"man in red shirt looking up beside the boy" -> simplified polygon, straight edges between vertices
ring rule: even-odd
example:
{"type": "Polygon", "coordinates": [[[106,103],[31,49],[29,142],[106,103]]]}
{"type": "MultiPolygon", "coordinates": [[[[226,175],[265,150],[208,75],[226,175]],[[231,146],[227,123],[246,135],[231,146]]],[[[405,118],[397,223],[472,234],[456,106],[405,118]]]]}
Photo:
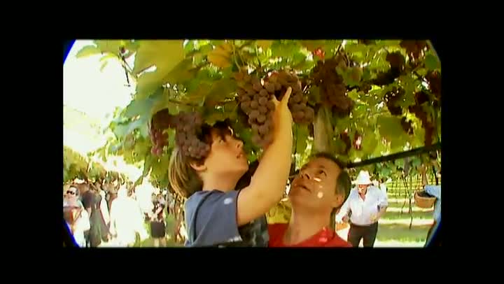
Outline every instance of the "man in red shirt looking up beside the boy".
{"type": "Polygon", "coordinates": [[[350,248],[333,227],[333,217],[350,189],[351,179],[341,162],[327,153],[314,155],[290,185],[290,222],[268,226],[269,247],[350,248]]]}

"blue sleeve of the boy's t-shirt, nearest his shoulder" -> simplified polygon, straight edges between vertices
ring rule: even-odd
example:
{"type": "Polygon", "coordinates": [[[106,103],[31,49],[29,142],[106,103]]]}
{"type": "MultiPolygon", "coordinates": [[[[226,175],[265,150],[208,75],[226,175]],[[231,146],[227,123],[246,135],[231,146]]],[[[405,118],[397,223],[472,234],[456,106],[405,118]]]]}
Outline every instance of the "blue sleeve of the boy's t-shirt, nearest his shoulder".
{"type": "Polygon", "coordinates": [[[186,201],[189,240],[186,246],[215,246],[242,241],[237,225],[238,194],[237,190],[197,192],[191,197],[193,200],[186,201]]]}

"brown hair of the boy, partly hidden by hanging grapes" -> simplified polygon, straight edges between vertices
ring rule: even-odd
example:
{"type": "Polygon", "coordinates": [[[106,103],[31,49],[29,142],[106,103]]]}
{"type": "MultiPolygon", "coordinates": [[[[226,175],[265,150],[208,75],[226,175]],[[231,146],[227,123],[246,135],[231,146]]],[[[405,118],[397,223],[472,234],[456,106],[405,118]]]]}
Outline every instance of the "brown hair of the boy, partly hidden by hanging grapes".
{"type": "MultiPolygon", "coordinates": [[[[213,143],[211,136],[212,131],[223,138],[227,134],[232,134],[229,122],[220,121],[216,122],[214,126],[207,124],[202,125],[201,132],[198,134],[198,139],[211,145],[213,143]]],[[[181,195],[181,197],[189,198],[195,192],[202,190],[203,182],[190,164],[192,162],[203,164],[205,159],[206,157],[202,159],[187,157],[183,155],[181,149],[177,145],[175,146],[168,166],[169,186],[172,187],[174,192],[181,195]]]]}

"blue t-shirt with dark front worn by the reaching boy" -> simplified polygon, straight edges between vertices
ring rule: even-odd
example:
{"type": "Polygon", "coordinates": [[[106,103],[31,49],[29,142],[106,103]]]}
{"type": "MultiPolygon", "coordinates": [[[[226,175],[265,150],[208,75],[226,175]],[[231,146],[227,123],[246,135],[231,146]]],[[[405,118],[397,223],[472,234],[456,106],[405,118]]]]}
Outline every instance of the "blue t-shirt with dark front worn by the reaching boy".
{"type": "Polygon", "coordinates": [[[267,247],[269,234],[266,216],[238,227],[239,192],[199,191],[189,197],[185,204],[186,246],[267,247]]]}

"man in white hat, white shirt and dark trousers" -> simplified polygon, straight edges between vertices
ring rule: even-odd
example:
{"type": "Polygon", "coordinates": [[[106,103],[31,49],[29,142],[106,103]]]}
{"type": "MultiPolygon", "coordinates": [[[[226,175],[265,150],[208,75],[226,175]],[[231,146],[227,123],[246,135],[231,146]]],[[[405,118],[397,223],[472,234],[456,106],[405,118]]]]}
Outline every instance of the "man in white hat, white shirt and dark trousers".
{"type": "Polygon", "coordinates": [[[335,220],[336,222],[350,220],[348,241],[353,247],[358,247],[360,239],[363,239],[364,247],[372,247],[378,232],[378,220],[384,215],[388,206],[387,196],[372,185],[367,171],[360,171],[356,185],[335,220]]]}

